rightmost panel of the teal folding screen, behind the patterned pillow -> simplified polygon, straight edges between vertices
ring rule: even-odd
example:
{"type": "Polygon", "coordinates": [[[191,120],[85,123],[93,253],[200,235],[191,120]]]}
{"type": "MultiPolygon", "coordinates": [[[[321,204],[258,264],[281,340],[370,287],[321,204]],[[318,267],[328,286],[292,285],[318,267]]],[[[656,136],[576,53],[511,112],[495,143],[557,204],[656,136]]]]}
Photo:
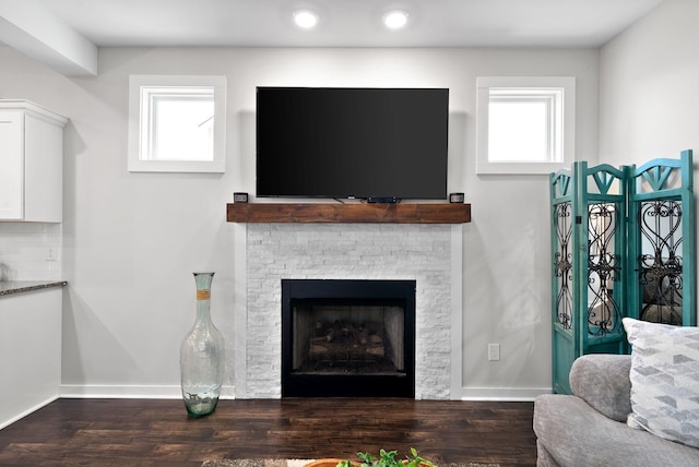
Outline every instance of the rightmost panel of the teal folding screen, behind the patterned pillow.
{"type": "Polygon", "coordinates": [[[630,168],[629,316],[695,326],[695,208],[691,151],[630,168]]]}

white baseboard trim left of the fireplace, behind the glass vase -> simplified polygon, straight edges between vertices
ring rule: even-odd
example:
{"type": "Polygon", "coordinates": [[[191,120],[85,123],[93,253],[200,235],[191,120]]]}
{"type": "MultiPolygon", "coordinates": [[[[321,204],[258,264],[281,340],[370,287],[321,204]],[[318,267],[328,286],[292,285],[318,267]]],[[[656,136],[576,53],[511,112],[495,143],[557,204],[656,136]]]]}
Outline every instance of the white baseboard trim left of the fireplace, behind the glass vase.
{"type": "MultiPolygon", "coordinates": [[[[62,384],[59,391],[62,398],[83,399],[179,399],[182,391],[179,385],[145,386],[145,385],[97,385],[97,384],[62,384]]],[[[223,386],[222,399],[234,399],[235,387],[223,386]]]]}

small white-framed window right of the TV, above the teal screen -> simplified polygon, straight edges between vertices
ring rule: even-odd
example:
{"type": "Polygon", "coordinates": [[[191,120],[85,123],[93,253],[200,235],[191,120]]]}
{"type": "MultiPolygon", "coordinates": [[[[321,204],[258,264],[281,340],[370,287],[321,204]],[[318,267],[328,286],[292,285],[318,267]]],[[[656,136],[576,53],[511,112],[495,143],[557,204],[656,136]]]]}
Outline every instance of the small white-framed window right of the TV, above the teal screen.
{"type": "Polygon", "coordinates": [[[574,116],[574,77],[479,77],[476,173],[549,173],[569,166],[574,116]]]}

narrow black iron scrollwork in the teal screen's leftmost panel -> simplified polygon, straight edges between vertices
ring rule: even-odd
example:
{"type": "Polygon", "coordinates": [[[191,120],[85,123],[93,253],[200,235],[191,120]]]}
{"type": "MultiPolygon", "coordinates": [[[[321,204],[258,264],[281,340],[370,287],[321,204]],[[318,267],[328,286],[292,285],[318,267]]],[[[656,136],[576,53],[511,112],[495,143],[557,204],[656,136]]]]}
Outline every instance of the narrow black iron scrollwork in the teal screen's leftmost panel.
{"type": "Polygon", "coordinates": [[[554,266],[557,277],[556,290],[556,320],[564,330],[572,328],[572,219],[571,204],[560,203],[556,205],[556,252],[554,266]]]}

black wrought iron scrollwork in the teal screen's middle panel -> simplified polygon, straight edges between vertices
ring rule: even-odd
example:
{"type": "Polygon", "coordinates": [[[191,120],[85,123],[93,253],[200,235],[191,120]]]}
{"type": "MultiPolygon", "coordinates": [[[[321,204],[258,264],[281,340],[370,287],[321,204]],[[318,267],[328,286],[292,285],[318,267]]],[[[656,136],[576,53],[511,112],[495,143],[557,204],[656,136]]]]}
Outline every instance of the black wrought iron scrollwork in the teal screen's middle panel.
{"type": "Polygon", "coordinates": [[[604,336],[620,331],[621,310],[614,286],[621,280],[621,255],[615,251],[614,203],[588,206],[588,332],[604,336]]]}

